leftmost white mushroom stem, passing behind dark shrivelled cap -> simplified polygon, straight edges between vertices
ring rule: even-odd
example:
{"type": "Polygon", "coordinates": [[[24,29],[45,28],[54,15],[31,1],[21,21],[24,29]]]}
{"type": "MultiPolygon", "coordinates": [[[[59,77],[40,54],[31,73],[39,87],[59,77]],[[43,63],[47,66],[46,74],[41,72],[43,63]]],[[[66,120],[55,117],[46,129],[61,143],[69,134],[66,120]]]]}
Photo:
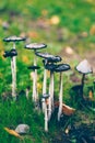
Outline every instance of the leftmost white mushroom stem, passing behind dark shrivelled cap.
{"type": "MultiPolygon", "coordinates": [[[[15,50],[15,43],[13,43],[13,50],[15,50]]],[[[11,70],[12,70],[12,97],[16,100],[16,56],[11,59],[11,70]]]]}

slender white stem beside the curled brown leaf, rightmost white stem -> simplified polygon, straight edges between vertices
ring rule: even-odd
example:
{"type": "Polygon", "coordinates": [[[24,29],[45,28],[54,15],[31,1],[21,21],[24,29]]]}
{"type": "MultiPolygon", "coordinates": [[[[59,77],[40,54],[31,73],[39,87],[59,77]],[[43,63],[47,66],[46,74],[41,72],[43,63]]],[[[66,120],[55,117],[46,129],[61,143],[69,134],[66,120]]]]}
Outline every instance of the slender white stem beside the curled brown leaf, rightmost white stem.
{"type": "Polygon", "coordinates": [[[58,121],[62,113],[62,72],[60,73],[60,86],[59,86],[59,110],[58,110],[58,121]]]}

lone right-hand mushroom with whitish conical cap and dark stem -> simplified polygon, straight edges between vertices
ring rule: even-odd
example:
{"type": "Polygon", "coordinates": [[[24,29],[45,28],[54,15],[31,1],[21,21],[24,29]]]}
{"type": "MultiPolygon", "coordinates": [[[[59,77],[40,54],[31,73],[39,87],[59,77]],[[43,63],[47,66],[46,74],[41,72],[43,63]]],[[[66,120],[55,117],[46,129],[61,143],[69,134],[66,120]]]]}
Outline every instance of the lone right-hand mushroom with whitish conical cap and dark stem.
{"type": "Polygon", "coordinates": [[[85,75],[93,73],[93,69],[91,67],[91,65],[88,64],[87,59],[83,59],[81,63],[79,63],[79,65],[75,67],[75,69],[82,74],[82,88],[81,88],[81,98],[83,99],[83,88],[84,88],[84,79],[85,79],[85,75]]]}

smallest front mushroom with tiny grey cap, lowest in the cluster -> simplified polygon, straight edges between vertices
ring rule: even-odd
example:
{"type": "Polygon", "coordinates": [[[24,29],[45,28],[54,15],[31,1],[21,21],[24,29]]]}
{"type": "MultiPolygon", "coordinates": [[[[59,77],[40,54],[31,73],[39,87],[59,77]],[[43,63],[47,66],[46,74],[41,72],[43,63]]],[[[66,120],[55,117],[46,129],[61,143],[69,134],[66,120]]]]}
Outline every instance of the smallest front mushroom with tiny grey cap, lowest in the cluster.
{"type": "Polygon", "coordinates": [[[49,98],[49,95],[44,94],[41,97],[41,102],[45,107],[45,131],[48,132],[48,109],[47,109],[47,99],[49,98]]]}

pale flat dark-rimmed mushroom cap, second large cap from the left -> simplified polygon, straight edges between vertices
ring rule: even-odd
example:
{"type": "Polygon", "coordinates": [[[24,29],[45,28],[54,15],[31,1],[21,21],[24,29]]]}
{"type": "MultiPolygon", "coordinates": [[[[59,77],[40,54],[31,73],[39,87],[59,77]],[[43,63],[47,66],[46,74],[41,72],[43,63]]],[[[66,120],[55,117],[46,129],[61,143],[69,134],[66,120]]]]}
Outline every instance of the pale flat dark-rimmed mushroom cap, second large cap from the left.
{"type": "Polygon", "coordinates": [[[44,43],[32,43],[32,44],[25,45],[25,48],[27,50],[40,50],[45,47],[47,47],[47,45],[44,43]]]}

